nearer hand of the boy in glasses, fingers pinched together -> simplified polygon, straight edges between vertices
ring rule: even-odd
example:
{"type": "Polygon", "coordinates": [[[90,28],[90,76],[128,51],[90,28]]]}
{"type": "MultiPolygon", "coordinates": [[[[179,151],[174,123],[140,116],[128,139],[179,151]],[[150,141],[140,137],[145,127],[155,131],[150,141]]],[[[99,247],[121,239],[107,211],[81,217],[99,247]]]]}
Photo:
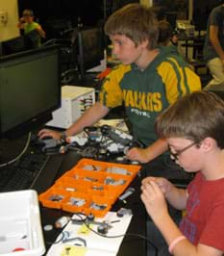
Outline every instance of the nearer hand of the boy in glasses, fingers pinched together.
{"type": "Polygon", "coordinates": [[[167,204],[164,194],[159,185],[151,180],[141,186],[141,200],[145,205],[147,213],[157,224],[168,215],[167,204]]]}

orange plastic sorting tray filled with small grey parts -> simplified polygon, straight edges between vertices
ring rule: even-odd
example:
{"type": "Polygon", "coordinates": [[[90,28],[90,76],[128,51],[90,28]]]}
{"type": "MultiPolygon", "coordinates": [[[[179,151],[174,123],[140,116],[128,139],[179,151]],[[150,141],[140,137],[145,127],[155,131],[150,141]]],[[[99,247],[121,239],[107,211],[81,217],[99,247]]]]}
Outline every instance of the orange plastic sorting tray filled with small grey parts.
{"type": "Polygon", "coordinates": [[[104,217],[136,177],[140,166],[82,159],[38,196],[45,207],[104,217]]]}

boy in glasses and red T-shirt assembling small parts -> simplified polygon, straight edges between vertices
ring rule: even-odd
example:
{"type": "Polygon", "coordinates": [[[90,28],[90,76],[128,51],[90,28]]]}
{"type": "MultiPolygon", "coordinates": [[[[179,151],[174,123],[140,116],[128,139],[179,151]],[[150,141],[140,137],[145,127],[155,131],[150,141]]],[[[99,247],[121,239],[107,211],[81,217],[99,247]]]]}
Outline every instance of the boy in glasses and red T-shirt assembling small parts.
{"type": "MultiPolygon", "coordinates": [[[[223,255],[223,128],[224,101],[209,91],[184,96],[157,118],[157,133],[167,141],[171,158],[187,172],[196,172],[187,190],[160,177],[142,181],[141,199],[168,244],[158,255],[223,255]],[[186,210],[179,227],[168,214],[166,200],[186,210]]],[[[161,250],[162,244],[156,246],[161,250]]]]}

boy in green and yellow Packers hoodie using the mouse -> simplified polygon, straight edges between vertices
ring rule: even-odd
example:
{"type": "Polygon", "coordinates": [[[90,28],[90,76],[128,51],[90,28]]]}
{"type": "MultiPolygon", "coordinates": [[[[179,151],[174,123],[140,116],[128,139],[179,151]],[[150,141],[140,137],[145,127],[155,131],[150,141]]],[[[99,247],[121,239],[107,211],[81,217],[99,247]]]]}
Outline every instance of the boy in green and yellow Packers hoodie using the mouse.
{"type": "Polygon", "coordinates": [[[105,32],[112,40],[112,53],[122,64],[105,78],[99,101],[63,134],[42,129],[38,135],[56,140],[75,135],[123,104],[134,137],[148,146],[132,148],[127,157],[150,162],[168,149],[167,142],[158,139],[154,131],[155,118],[178,98],[201,90],[200,78],[168,47],[158,47],[158,22],[151,8],[126,5],[112,13],[105,32]],[[146,157],[142,150],[146,150],[146,157]]]}

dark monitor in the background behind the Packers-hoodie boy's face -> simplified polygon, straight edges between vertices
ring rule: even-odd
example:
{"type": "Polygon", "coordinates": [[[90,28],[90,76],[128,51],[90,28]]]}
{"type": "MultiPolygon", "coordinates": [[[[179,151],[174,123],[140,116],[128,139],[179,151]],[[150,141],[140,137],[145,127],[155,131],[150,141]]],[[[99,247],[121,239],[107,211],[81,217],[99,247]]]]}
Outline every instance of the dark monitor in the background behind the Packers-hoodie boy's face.
{"type": "Polygon", "coordinates": [[[77,64],[81,77],[87,69],[95,67],[104,59],[103,32],[101,28],[85,28],[78,32],[77,64]]]}

